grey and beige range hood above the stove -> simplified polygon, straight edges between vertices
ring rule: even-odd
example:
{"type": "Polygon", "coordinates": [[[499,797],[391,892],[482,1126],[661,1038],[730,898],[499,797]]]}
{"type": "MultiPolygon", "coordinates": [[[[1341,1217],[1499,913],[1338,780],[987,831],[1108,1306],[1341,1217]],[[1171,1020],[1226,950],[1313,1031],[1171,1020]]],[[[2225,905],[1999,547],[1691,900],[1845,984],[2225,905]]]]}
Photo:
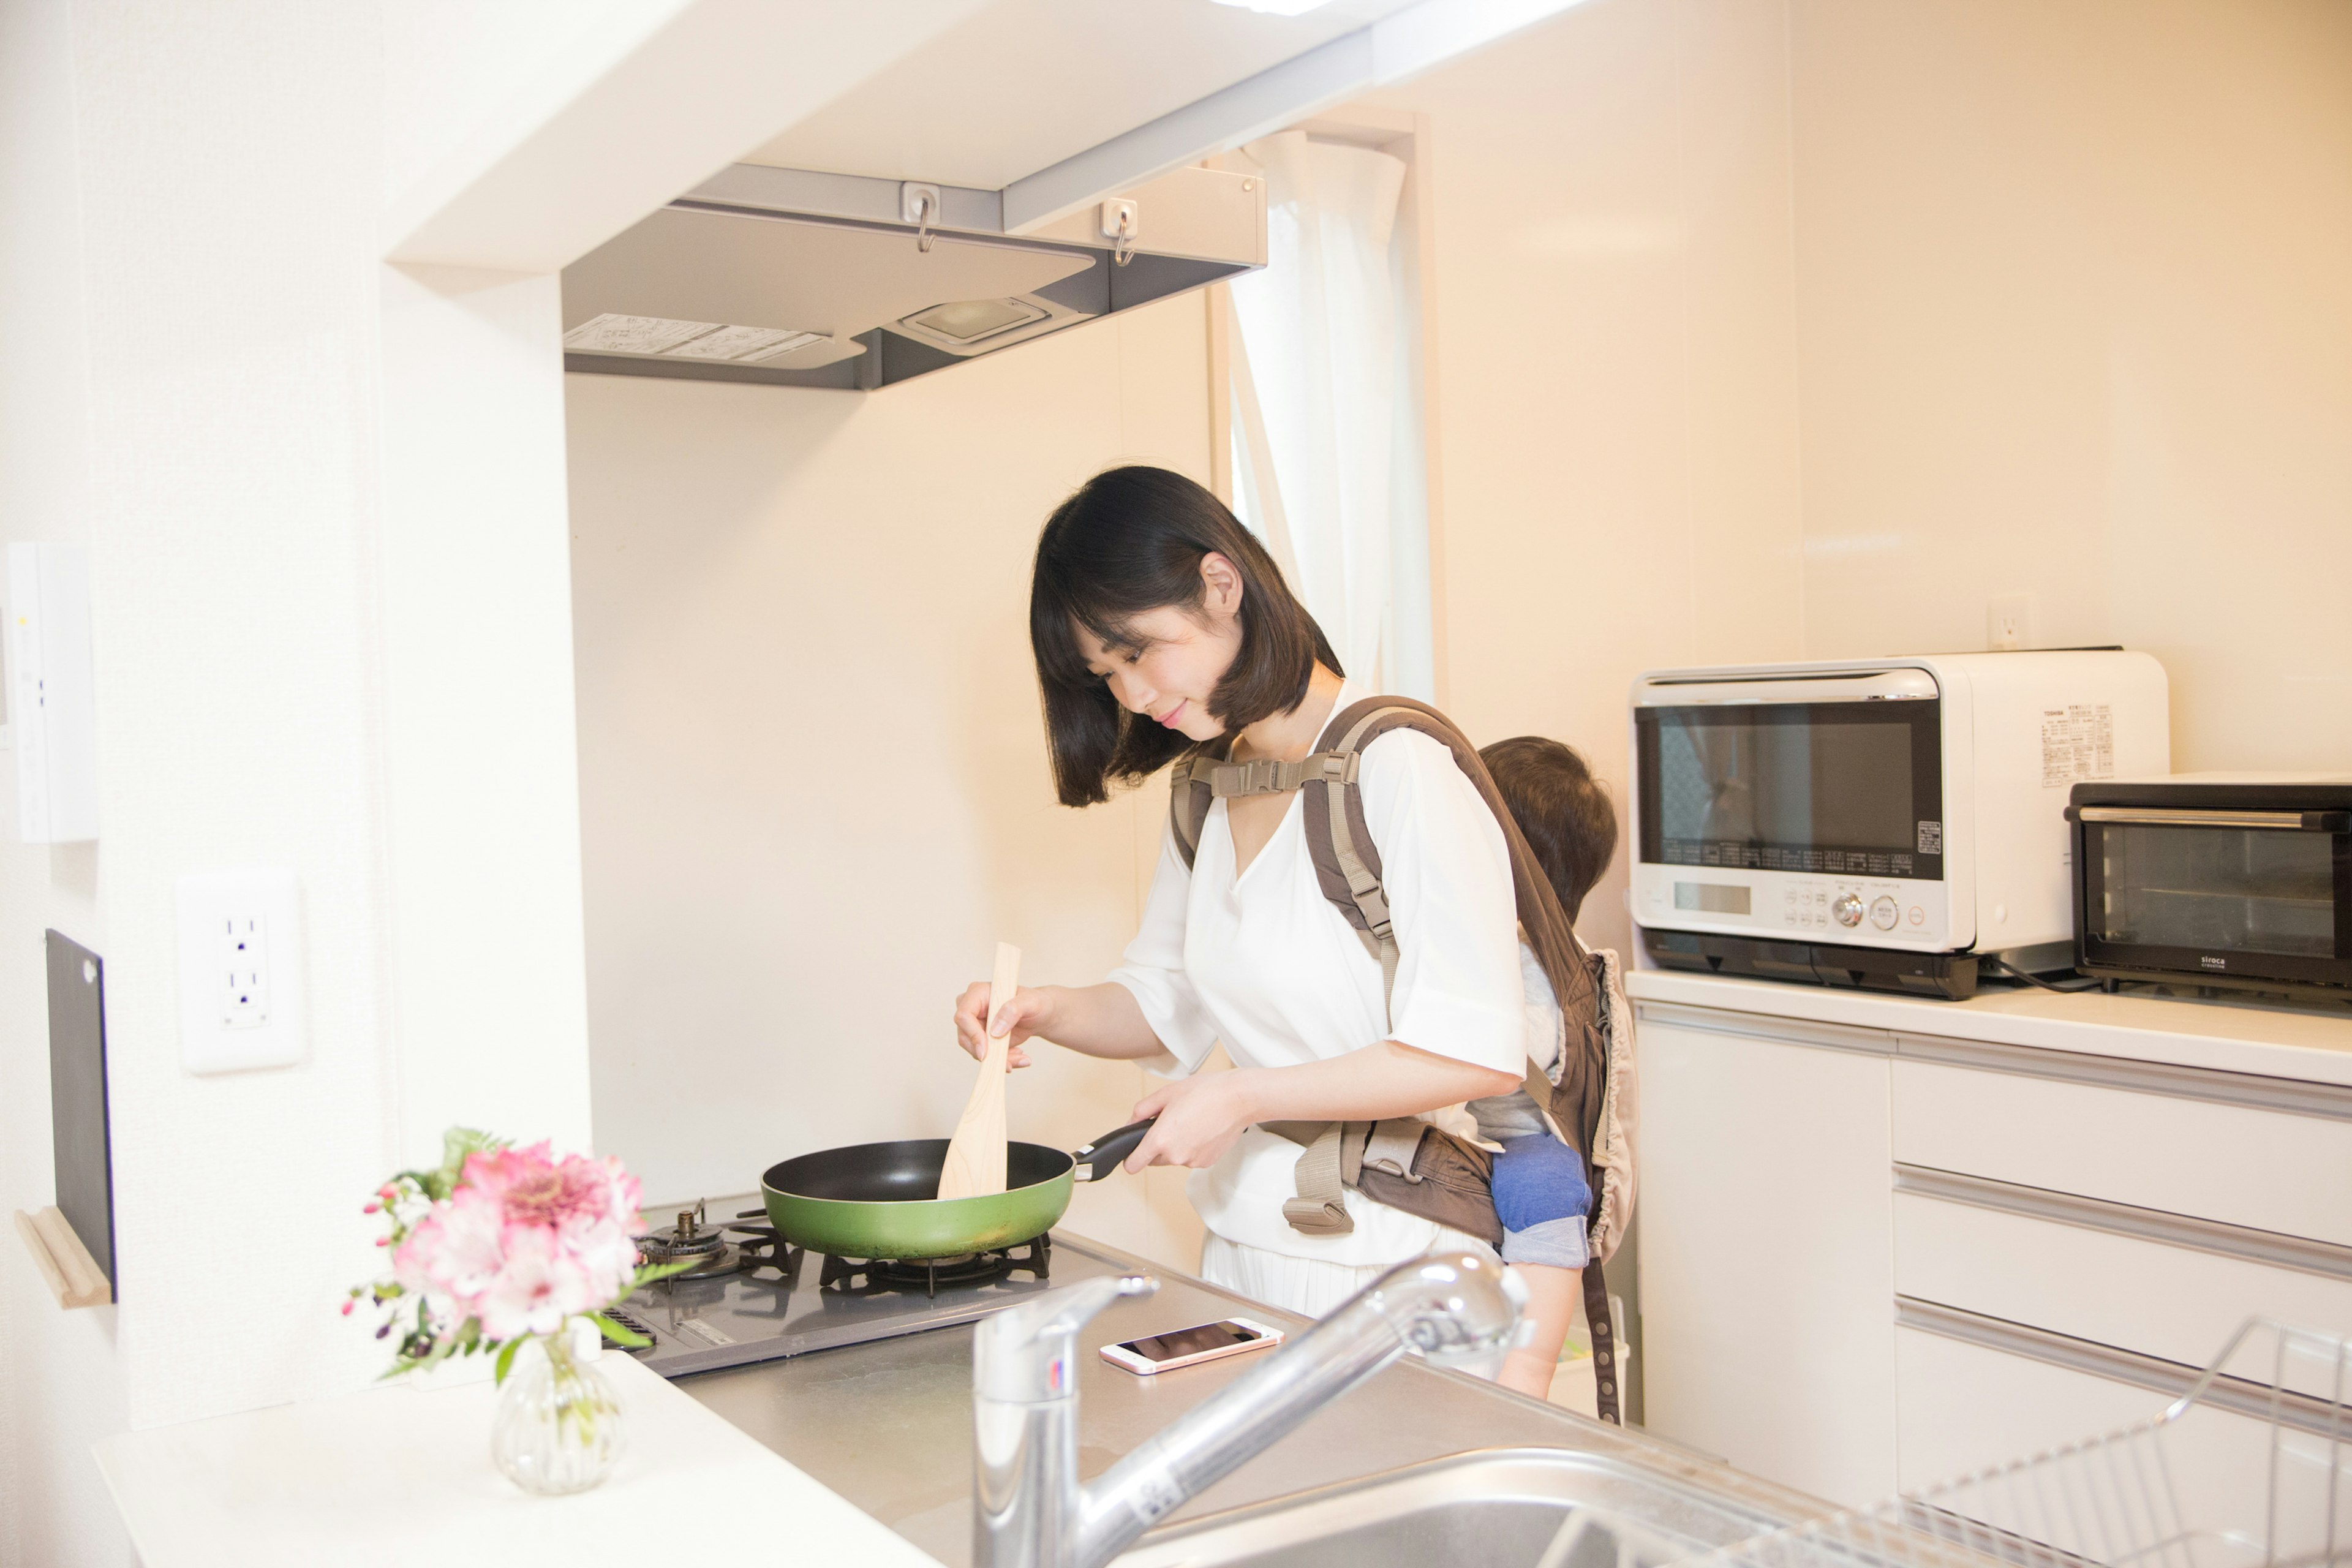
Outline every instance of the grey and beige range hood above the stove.
{"type": "Polygon", "coordinates": [[[1221,169],[1007,235],[997,190],[734,165],[564,268],[564,369],[870,393],[1258,266],[1221,169]]]}

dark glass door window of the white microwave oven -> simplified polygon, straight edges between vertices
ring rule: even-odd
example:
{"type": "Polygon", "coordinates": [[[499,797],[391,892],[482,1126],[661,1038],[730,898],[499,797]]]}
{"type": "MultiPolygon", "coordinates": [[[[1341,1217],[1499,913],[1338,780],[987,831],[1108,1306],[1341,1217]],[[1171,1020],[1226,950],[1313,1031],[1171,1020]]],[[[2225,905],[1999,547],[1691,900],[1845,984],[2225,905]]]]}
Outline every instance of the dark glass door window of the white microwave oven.
{"type": "Polygon", "coordinates": [[[1940,879],[1940,708],[1635,708],[1642,860],[1940,879]]]}

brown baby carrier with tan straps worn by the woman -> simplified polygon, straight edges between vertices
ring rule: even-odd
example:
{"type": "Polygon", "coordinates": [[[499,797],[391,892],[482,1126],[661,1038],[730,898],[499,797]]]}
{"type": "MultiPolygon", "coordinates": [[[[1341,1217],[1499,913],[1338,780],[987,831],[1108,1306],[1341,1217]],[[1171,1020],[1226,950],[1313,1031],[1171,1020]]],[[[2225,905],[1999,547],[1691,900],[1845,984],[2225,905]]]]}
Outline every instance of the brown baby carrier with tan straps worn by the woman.
{"type": "MultiPolygon", "coordinates": [[[[1632,1218],[1635,1060],[1632,1013],[1618,983],[1613,952],[1595,954],[1559,907],[1559,896],[1536,865],[1526,837],[1503,804],[1477,748],[1435,708],[1402,696],[1374,696],[1334,715],[1303,762],[1228,762],[1230,741],[1211,741],[1174,766],[1169,823],[1176,849],[1190,867],[1200,830],[1214,799],[1237,795],[1289,795],[1303,790],[1308,853],[1315,877],[1364,947],[1381,964],[1381,994],[1397,983],[1397,938],[1381,889],[1381,851],[1364,823],[1357,769],[1364,748],[1392,729],[1416,729],[1442,741],[1461,771],[1477,785],[1503,842],[1510,846],[1510,882],[1519,905],[1519,929],[1536,964],[1552,983],[1564,1037],[1550,1072],[1526,1065],[1526,1091],[1585,1161],[1592,1187],[1588,1244],[1592,1262],[1583,1272],[1585,1321],[1592,1328],[1592,1366],[1602,1420],[1618,1422],[1616,1326],[1602,1265],[1616,1253],[1632,1218]]],[[[1503,1241],[1494,1211],[1494,1157],[1479,1145],[1414,1117],[1392,1121],[1270,1121],[1270,1133],[1305,1145],[1298,1154],[1296,1197],[1282,1215],[1305,1234],[1352,1229],[1341,1187],[1437,1220],[1491,1244],[1503,1241]]]]}

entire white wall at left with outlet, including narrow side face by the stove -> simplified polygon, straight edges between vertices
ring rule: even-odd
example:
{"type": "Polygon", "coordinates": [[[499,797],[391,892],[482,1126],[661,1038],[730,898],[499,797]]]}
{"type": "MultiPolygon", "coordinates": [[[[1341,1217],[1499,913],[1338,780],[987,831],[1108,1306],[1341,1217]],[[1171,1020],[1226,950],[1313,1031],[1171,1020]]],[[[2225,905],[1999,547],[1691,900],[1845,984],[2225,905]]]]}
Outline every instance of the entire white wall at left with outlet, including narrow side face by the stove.
{"type": "Polygon", "coordinates": [[[96,844],[24,846],[0,769],[0,1208],[52,1201],[56,926],[108,961],[120,1293],[0,1241],[5,1563],[129,1561],[92,1439],[381,1371],[360,1201],[447,1119],[588,1135],[553,280],[379,266],[381,52],[0,7],[0,534],[92,550],[101,780],[96,844]],[[198,1079],[172,889],[226,865],[301,877],[310,1056],[198,1079]]]}

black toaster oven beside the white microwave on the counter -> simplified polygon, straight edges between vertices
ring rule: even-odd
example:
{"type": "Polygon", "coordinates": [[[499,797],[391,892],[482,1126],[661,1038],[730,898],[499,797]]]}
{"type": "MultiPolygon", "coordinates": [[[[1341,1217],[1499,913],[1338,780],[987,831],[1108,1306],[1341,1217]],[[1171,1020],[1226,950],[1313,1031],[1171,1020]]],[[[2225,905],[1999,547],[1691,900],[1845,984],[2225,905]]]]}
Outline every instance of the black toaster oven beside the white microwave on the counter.
{"type": "Polygon", "coordinates": [[[2352,778],[2079,783],[2074,966],[2352,1001],[2352,778]]]}

